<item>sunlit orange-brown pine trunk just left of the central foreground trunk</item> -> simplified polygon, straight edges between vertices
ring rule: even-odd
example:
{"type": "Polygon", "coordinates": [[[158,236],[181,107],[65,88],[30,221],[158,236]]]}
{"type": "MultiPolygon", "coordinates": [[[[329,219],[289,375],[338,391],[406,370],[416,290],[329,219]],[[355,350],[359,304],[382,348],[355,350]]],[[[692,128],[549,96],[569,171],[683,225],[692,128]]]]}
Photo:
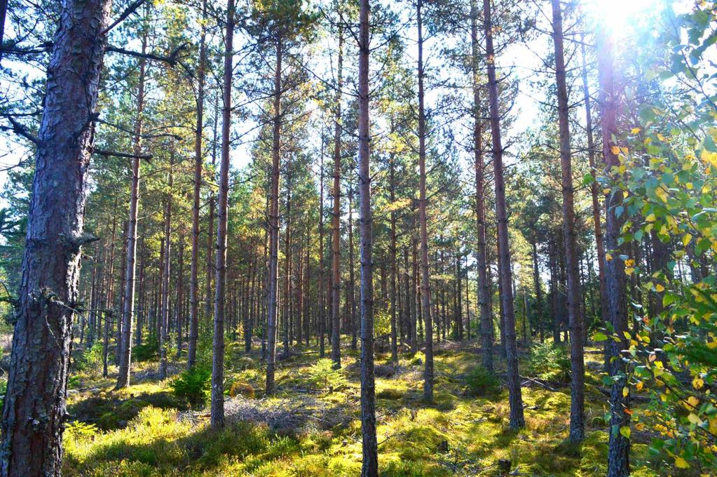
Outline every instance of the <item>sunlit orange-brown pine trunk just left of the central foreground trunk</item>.
{"type": "Polygon", "coordinates": [[[333,129],[333,214],[331,216],[331,360],[335,369],[341,368],[341,88],[343,88],[343,28],[338,27],[338,82],[336,85],[336,123],[333,129]]]}

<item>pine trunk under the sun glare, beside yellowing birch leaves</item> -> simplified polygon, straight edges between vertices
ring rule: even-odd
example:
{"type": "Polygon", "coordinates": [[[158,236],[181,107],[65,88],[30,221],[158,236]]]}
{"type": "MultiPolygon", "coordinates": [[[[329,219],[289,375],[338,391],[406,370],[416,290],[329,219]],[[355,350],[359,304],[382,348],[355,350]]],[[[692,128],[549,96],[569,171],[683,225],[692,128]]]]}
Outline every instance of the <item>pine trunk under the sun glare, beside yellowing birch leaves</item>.
{"type": "MultiPolygon", "coordinates": [[[[618,88],[614,84],[612,39],[600,29],[597,34],[598,70],[600,84],[600,104],[602,105],[602,154],[605,161],[605,174],[612,176],[612,168],[620,164],[619,157],[612,150],[617,147],[612,138],[617,138],[617,110],[619,108],[618,88]]],[[[607,450],[607,476],[626,477],[630,474],[630,440],[619,432],[630,425],[630,415],[625,412],[630,407],[630,394],[623,395],[625,382],[625,364],[620,350],[627,348],[624,333],[627,331],[627,296],[625,290],[625,263],[619,256],[622,246],[617,239],[625,214],[618,215],[616,208],[621,207],[622,194],[609,194],[606,204],[605,248],[612,260],[605,263],[605,291],[608,313],[618,341],[608,340],[609,375],[613,379],[610,389],[610,437],[607,450]]]]}

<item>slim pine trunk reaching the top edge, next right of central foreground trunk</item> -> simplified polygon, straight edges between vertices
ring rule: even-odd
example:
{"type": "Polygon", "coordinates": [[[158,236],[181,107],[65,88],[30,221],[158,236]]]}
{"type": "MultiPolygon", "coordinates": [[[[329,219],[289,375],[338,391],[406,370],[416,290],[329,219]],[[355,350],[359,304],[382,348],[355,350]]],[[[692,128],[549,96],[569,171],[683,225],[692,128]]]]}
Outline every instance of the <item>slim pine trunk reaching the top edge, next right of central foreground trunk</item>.
{"type": "Polygon", "coordinates": [[[433,400],[433,320],[431,316],[431,288],[428,272],[428,219],[426,217],[426,115],[424,110],[423,69],[423,0],[416,6],[418,24],[418,166],[419,166],[419,227],[421,228],[421,298],[425,322],[425,366],[423,399],[433,400]]]}

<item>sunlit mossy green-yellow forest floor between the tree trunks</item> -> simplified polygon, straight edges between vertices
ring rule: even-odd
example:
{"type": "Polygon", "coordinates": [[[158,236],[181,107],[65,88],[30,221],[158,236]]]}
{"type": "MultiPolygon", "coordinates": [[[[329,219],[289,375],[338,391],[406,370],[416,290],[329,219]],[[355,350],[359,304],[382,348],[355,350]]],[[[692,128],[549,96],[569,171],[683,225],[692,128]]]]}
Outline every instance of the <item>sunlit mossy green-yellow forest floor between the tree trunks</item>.
{"type": "MultiPolygon", "coordinates": [[[[504,362],[497,360],[493,382],[478,367],[479,351],[473,342],[437,346],[430,404],[422,400],[420,352],[402,354],[398,367],[388,354],[377,355],[381,476],[497,476],[500,460],[511,461],[511,475],[605,475],[608,407],[597,348],[586,356],[587,438],[581,446],[565,441],[570,395],[569,382],[559,379],[564,369],[548,369],[552,358],[521,351],[526,428],[516,432],[508,428],[504,362]]],[[[342,371],[334,373],[328,361],[316,364],[315,348],[295,349],[278,362],[277,392],[267,398],[260,354],[247,356],[240,344],[228,344],[226,388],[234,397],[227,396],[222,432],[210,429],[208,408],[191,409],[173,394],[176,375],[156,379],[156,358],[138,362],[133,384],[120,391],[113,390],[113,379],[75,374],[63,475],[358,476],[358,354],[346,348],[342,358],[342,371]]],[[[558,361],[564,368],[564,357],[558,361]]],[[[182,367],[172,362],[170,372],[182,367]]],[[[636,434],[632,476],[660,475],[647,462],[647,436],[636,434]]]]}

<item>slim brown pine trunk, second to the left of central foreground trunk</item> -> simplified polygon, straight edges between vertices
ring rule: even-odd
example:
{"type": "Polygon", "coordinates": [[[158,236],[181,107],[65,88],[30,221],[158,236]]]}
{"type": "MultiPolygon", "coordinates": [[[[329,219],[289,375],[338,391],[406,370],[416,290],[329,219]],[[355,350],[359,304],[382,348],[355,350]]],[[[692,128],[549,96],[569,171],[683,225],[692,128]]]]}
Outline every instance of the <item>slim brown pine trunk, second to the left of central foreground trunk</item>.
{"type": "Polygon", "coordinates": [[[269,212],[269,288],[267,295],[267,382],[266,394],[274,392],[276,366],[276,324],[279,274],[279,159],[281,147],[281,62],[282,43],[276,42],[276,65],[274,70],[274,118],[271,192],[269,212]]]}

